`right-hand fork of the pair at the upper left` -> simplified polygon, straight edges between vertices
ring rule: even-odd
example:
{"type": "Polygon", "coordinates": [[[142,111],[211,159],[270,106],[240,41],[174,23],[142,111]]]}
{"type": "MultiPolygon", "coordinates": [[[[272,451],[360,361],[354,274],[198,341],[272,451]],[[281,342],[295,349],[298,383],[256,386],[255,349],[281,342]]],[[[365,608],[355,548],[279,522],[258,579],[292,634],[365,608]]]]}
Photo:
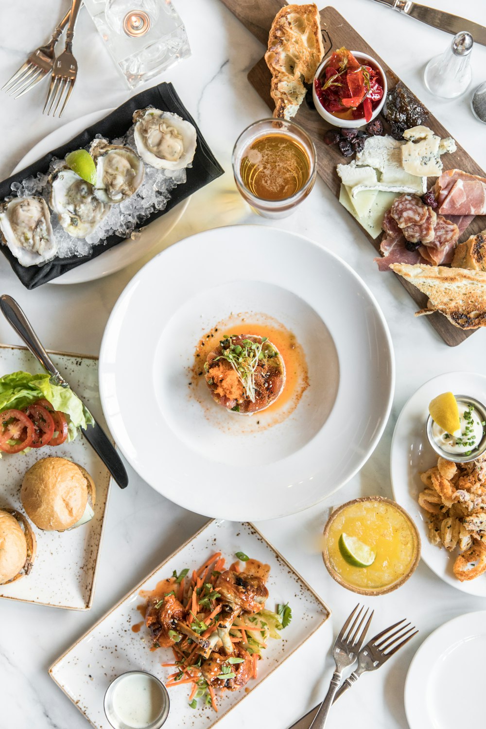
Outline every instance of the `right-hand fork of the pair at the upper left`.
{"type": "Polygon", "coordinates": [[[68,32],[66,33],[66,45],[63,52],[55,59],[54,66],[52,66],[50,87],[49,92],[47,93],[44,109],[42,110],[43,114],[47,109],[47,114],[52,112],[52,116],[55,117],[55,114],[59,109],[59,116],[61,117],[64,109],[66,109],[66,104],[69,101],[71,93],[73,92],[74,82],[76,81],[78,72],[78,64],[72,52],[73,36],[74,26],[76,25],[81,6],[82,0],[72,0],[68,32]],[[60,106],[61,101],[63,103],[60,106]]]}

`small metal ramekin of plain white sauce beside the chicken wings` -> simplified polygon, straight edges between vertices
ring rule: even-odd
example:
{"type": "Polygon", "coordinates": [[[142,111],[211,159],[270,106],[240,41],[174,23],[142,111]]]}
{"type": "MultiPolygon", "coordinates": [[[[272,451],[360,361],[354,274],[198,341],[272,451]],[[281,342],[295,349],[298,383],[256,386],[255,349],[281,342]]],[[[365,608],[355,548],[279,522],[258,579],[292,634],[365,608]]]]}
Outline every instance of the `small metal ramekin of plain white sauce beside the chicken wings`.
{"type": "Polygon", "coordinates": [[[106,719],[114,729],[159,729],[169,715],[168,691],[145,671],[128,671],[105,694],[106,719]]]}

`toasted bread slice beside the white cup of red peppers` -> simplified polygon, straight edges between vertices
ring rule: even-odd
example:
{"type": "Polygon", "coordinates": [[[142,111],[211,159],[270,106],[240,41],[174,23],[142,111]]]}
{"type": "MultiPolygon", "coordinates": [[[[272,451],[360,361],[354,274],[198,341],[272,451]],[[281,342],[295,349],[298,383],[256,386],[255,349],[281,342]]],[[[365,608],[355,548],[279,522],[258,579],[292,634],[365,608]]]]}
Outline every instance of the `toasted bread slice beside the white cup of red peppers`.
{"type": "Polygon", "coordinates": [[[315,71],[324,55],[321,17],[317,6],[286,5],[270,28],[265,61],[272,73],[270,93],[275,101],[273,116],[291,119],[304,100],[302,82],[313,82],[315,71]]]}

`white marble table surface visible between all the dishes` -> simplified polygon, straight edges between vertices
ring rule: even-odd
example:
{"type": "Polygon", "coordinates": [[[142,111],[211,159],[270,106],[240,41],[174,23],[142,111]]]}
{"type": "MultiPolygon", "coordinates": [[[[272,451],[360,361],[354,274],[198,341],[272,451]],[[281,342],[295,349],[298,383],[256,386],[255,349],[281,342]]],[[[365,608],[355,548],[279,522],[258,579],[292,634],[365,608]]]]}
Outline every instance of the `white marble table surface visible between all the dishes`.
{"type": "MultiPolygon", "coordinates": [[[[248,70],[262,55],[262,46],[219,0],[175,0],[175,3],[187,25],[193,55],[157,81],[170,80],[176,85],[227,172],[209,189],[195,195],[183,222],[163,247],[198,230],[233,222],[272,225],[243,206],[230,174],[230,154],[236,136],[250,122],[268,114],[246,80],[248,70]]],[[[455,0],[428,0],[428,4],[486,22],[484,8],[478,0],[464,0],[460,6],[455,0]]],[[[28,51],[49,36],[67,5],[67,0],[1,3],[2,82],[20,66],[28,51]]],[[[370,0],[339,0],[335,5],[442,120],[452,136],[486,167],[486,127],[471,114],[471,92],[459,101],[440,101],[423,86],[426,62],[444,50],[450,36],[370,0]]],[[[74,50],[79,80],[63,122],[96,109],[117,106],[130,95],[84,10],[79,17],[74,50]]],[[[485,47],[474,48],[471,63],[471,88],[474,88],[486,78],[485,47]]],[[[2,95],[2,178],[9,175],[30,147],[63,123],[42,117],[44,94],[45,85],[39,85],[34,93],[18,101],[2,95]]],[[[388,466],[391,435],[404,402],[434,375],[447,370],[484,370],[486,332],[477,332],[458,348],[449,348],[425,317],[413,319],[415,304],[399,281],[378,273],[367,239],[320,179],[294,216],[278,225],[318,241],[340,254],[360,273],[383,308],[396,354],[396,394],[391,418],[380,444],[361,472],[329,502],[293,517],[258,525],[327,601],[334,612],[335,632],[356,604],[356,596],[329,577],[321,555],[315,551],[313,538],[321,530],[332,504],[364,494],[391,496],[388,466]]],[[[144,262],[141,260],[90,284],[46,285],[29,292],[2,259],[0,293],[8,293],[19,301],[50,348],[98,354],[111,308],[144,262]]],[[[18,343],[4,319],[0,319],[0,341],[18,343]]],[[[129,475],[130,488],[122,492],[115,487],[111,494],[95,600],[89,612],[1,601],[1,729],[87,727],[86,720],[48,676],[48,666],[144,574],[204,523],[205,518],[168,502],[130,469],[129,475]]],[[[358,721],[361,729],[406,728],[404,681],[420,643],[444,621],[486,608],[485,600],[466,596],[445,585],[425,564],[420,564],[403,588],[372,602],[377,609],[375,627],[406,616],[420,628],[420,634],[398,657],[376,674],[362,679],[353,689],[353,695],[346,696],[334,707],[329,729],[355,725],[358,721]]],[[[232,714],[234,720],[243,722],[245,716],[250,716],[247,712],[253,709],[257,712],[253,716],[259,717],[257,726],[288,727],[323,695],[332,668],[325,647],[326,636],[310,641],[264,687],[240,704],[232,714]]],[[[230,726],[230,719],[222,720],[220,726],[222,729],[230,726]]]]}

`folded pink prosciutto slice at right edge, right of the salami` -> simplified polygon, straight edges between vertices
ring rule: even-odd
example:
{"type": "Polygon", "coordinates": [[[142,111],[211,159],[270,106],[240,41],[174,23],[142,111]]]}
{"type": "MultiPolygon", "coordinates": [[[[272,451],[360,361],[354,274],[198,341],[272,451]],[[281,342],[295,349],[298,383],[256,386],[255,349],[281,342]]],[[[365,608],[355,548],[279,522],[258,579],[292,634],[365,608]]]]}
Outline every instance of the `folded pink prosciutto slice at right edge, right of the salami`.
{"type": "Polygon", "coordinates": [[[434,185],[443,215],[486,215],[486,178],[462,170],[447,170],[434,185]]]}

